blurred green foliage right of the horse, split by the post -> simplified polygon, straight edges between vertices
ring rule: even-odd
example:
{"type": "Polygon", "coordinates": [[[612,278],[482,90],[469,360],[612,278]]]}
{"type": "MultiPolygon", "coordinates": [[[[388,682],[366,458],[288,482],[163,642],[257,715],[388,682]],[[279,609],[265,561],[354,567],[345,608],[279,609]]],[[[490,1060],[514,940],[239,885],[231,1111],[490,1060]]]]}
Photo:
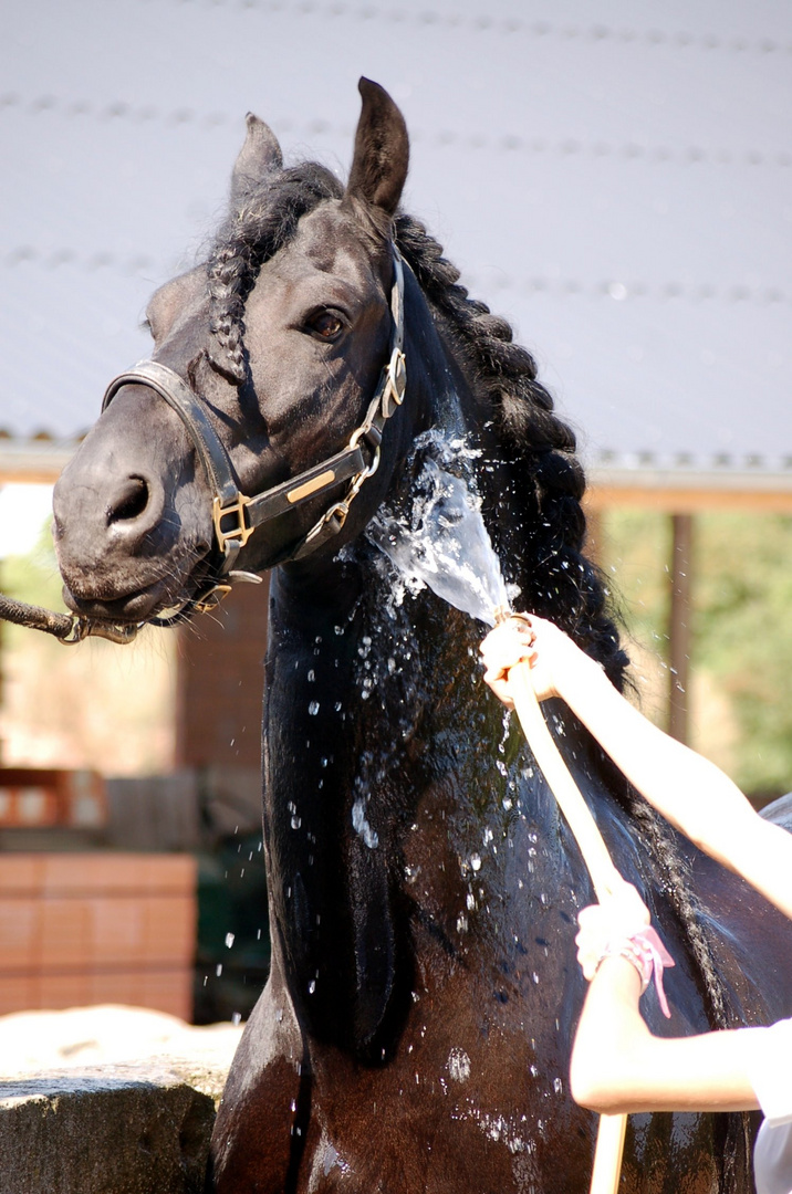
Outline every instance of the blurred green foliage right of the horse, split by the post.
{"type": "MultiPolygon", "coordinates": [[[[644,511],[613,511],[603,540],[602,562],[614,578],[627,628],[662,660],[668,644],[670,519],[644,511]]],[[[692,576],[694,721],[720,724],[722,730],[726,724],[731,738],[727,769],[745,792],[788,792],[792,518],[696,516],[692,576]],[[714,706],[710,718],[702,707],[707,702],[714,706]]],[[[693,745],[723,762],[706,731],[693,745]]]]}

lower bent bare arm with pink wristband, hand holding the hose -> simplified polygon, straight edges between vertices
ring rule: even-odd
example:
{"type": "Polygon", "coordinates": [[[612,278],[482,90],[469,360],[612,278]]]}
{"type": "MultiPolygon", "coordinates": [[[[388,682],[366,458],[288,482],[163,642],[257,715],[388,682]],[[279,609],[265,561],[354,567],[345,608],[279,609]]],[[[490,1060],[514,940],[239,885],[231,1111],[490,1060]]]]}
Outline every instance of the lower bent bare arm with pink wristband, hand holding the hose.
{"type": "MultiPolygon", "coordinates": [[[[634,888],[630,891],[640,903],[634,888]]],[[[593,978],[572,1047],[572,1097],[602,1114],[759,1107],[747,1061],[760,1042],[757,1034],[767,1029],[653,1036],[639,1011],[640,977],[618,952],[618,941],[630,935],[624,906],[618,897],[584,909],[579,917],[578,961],[593,978]],[[601,958],[614,940],[614,955],[601,958]]],[[[633,909],[627,918],[631,915],[633,909]]],[[[633,922],[632,929],[639,931],[645,921],[633,922]]]]}

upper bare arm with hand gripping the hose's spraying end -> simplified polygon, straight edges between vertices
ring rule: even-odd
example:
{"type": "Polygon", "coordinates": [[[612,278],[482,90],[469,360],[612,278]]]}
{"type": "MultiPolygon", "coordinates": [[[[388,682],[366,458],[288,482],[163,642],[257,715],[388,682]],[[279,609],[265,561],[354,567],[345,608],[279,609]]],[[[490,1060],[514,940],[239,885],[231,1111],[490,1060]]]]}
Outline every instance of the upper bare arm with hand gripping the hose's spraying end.
{"type": "Polygon", "coordinates": [[[481,645],[485,679],[511,703],[509,670],[524,660],[540,700],[560,696],[646,800],[700,849],[792,917],[792,836],[763,820],[713,763],[664,734],[552,622],[498,627],[481,645]]]}

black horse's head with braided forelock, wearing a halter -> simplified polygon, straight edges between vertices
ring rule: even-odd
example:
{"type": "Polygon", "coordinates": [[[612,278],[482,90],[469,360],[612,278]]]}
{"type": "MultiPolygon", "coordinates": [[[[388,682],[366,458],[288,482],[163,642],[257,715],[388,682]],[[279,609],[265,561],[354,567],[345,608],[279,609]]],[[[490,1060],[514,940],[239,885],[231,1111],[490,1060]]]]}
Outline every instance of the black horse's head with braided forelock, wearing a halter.
{"type": "Polygon", "coordinates": [[[386,92],[360,87],[345,189],[283,170],[248,116],[210,259],[156,291],[151,362],[111,384],[56,487],[76,613],[145,621],[229,572],[336,552],[381,501],[418,419],[393,244],[409,143],[386,92]]]}

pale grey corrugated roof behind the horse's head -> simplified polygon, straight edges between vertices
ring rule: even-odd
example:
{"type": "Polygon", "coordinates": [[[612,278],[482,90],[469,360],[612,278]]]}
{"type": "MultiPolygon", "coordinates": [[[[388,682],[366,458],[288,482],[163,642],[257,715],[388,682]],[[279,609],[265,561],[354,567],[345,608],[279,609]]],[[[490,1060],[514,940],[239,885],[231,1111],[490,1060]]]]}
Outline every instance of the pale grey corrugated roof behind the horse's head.
{"type": "Polygon", "coordinates": [[[405,207],[591,463],[792,469],[788,6],[31,0],[0,62],[0,431],[85,430],[245,112],[343,173],[367,74],[411,129],[405,207]]]}

